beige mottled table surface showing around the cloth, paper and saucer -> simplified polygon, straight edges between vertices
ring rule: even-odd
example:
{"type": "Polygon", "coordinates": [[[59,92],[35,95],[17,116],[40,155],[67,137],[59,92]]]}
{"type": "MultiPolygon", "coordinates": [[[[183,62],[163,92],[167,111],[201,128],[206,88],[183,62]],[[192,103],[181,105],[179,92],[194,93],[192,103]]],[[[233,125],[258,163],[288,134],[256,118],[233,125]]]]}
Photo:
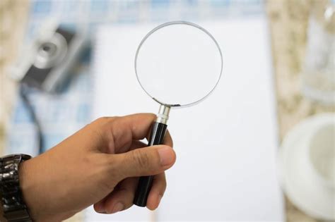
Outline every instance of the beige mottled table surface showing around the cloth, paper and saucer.
{"type": "MultiPolygon", "coordinates": [[[[269,0],[266,13],[269,16],[278,125],[281,140],[298,122],[315,113],[334,112],[309,101],[300,91],[300,70],[305,55],[307,21],[312,1],[269,0]]],[[[23,42],[25,22],[28,16],[28,0],[0,1],[0,153],[4,147],[6,124],[13,108],[16,84],[8,79],[6,71],[17,56],[17,43],[23,42]],[[6,52],[6,54],[5,54],[6,52]]],[[[69,221],[80,221],[81,215],[69,221]]],[[[318,221],[297,209],[286,198],[286,221],[318,221]]]]}

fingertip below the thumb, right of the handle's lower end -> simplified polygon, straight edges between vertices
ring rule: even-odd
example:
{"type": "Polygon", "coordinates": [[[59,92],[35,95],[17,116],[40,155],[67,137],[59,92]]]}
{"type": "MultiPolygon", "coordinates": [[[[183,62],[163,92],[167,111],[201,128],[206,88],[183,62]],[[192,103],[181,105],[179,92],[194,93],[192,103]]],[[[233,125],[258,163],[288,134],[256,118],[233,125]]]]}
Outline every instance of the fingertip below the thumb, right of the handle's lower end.
{"type": "Polygon", "coordinates": [[[148,200],[146,202],[146,207],[152,211],[156,209],[162,199],[166,189],[166,179],[165,173],[160,173],[153,177],[153,186],[151,187],[150,193],[148,195],[148,200]]]}

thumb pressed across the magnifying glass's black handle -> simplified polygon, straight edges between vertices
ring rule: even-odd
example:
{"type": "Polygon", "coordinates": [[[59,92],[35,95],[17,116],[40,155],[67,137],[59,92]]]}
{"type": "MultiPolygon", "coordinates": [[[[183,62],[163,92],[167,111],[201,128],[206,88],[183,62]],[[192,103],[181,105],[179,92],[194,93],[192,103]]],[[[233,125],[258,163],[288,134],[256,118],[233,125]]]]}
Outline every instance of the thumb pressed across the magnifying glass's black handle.
{"type": "Polygon", "coordinates": [[[156,145],[113,155],[114,166],[122,178],[162,173],[175,164],[172,147],[156,145]]]}

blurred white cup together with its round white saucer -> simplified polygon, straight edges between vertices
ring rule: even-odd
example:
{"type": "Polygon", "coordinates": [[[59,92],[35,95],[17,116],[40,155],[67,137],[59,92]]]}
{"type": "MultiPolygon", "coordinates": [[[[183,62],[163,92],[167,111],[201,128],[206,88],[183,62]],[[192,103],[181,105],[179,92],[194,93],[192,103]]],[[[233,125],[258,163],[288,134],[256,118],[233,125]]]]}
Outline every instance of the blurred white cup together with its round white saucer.
{"type": "Polygon", "coordinates": [[[279,176],[288,199],[306,214],[335,221],[335,113],[296,125],[283,140],[279,176]]]}

